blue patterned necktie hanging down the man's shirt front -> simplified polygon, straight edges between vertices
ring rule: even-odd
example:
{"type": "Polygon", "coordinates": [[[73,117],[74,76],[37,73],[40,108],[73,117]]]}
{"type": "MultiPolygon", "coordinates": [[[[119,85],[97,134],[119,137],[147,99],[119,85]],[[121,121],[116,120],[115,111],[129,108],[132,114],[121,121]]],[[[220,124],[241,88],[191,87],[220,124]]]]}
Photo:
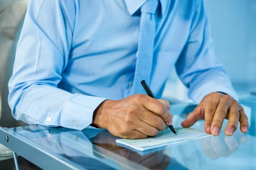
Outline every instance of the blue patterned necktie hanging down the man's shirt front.
{"type": "Polygon", "coordinates": [[[137,51],[137,60],[133,84],[133,94],[145,94],[140,82],[145,80],[150,83],[152,68],[154,37],[156,32],[156,23],[154,13],[158,6],[158,0],[147,0],[141,6],[140,34],[137,51]]]}

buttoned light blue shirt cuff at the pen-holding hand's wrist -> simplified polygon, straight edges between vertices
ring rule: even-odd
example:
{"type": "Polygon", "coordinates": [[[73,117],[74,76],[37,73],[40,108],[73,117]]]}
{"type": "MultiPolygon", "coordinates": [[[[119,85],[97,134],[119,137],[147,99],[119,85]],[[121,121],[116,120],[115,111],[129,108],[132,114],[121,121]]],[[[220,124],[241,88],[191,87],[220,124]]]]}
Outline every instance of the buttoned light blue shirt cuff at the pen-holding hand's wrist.
{"type": "Polygon", "coordinates": [[[93,112],[105,100],[106,98],[74,94],[60,109],[60,125],[76,130],[84,129],[93,122],[93,112]]]}

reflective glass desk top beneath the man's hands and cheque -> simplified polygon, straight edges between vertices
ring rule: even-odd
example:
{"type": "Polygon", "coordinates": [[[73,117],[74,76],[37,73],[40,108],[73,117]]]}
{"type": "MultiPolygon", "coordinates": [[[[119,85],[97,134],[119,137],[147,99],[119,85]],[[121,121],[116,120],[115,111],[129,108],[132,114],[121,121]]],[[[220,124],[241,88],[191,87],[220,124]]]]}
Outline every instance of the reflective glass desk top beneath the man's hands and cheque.
{"type": "MultiPolygon", "coordinates": [[[[256,96],[244,96],[240,102],[249,109],[248,133],[238,129],[234,136],[225,136],[223,128],[220,136],[146,152],[119,147],[115,136],[95,128],[81,131],[41,125],[1,128],[0,143],[42,169],[256,170],[256,96]]],[[[194,108],[195,105],[171,105],[171,112],[177,115],[174,127],[180,127],[180,122],[194,108]]],[[[203,127],[204,121],[193,126],[201,130],[203,127]]]]}

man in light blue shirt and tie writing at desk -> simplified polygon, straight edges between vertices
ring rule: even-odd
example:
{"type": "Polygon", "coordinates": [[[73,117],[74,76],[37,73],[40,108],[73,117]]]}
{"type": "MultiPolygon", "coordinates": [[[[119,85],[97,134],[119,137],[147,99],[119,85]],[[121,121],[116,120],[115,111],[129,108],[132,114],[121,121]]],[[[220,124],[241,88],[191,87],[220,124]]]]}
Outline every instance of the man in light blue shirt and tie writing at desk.
{"type": "Polygon", "coordinates": [[[172,67],[198,107],[182,122],[205,119],[219,135],[248,130],[230,79],[215,58],[202,0],[31,0],[9,82],[16,119],[73,129],[108,129],[129,139],[172,124],[161,97],[172,67]]]}

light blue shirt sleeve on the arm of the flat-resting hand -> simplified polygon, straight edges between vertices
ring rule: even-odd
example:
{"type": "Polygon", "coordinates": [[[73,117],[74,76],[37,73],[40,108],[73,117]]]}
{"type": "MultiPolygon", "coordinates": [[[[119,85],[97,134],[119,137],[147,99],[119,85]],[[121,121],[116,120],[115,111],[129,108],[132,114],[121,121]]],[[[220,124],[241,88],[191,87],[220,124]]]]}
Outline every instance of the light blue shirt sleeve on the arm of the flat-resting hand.
{"type": "Polygon", "coordinates": [[[209,19],[203,0],[195,0],[189,39],[175,65],[181,81],[196,103],[207,94],[223,92],[238,100],[230,78],[215,57],[209,19]]]}

